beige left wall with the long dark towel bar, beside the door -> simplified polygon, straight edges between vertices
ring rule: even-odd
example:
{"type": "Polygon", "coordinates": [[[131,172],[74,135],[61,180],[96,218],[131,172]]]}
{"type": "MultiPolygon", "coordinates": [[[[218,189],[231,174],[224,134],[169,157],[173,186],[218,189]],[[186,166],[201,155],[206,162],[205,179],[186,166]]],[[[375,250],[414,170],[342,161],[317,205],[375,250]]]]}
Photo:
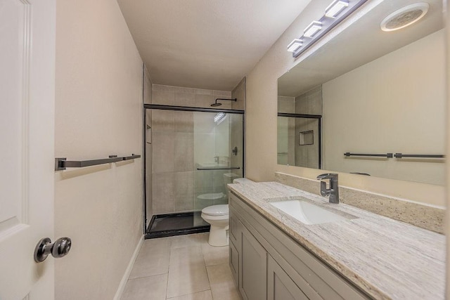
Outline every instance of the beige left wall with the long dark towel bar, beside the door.
{"type": "MultiPolygon", "coordinates": [[[[142,154],[142,61],[115,0],[58,1],[56,157],[142,154]]],[[[55,174],[56,299],[113,299],[142,236],[142,160],[55,174]]]]}

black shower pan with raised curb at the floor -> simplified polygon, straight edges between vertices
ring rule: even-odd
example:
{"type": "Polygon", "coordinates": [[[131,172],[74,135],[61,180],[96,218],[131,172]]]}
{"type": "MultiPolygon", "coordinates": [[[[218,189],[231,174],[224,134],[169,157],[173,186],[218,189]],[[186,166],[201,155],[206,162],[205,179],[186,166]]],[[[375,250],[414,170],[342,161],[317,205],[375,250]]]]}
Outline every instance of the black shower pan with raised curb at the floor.
{"type": "Polygon", "coordinates": [[[174,235],[189,235],[192,233],[207,233],[210,224],[200,216],[201,211],[175,214],[153,215],[148,224],[145,238],[172,237],[174,235]],[[194,226],[194,222],[197,226],[194,226]]]}

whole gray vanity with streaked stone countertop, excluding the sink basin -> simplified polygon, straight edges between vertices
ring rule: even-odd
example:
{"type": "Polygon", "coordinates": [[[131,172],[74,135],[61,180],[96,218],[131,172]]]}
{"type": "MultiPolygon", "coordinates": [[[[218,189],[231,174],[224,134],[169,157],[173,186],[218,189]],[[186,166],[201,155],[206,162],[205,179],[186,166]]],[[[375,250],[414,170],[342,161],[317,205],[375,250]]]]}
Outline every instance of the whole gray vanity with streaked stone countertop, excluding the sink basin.
{"type": "Polygon", "coordinates": [[[229,189],[230,267],[243,299],[444,299],[444,235],[281,183],[229,189]],[[307,225],[273,205],[285,201],[340,221],[307,225]]]}

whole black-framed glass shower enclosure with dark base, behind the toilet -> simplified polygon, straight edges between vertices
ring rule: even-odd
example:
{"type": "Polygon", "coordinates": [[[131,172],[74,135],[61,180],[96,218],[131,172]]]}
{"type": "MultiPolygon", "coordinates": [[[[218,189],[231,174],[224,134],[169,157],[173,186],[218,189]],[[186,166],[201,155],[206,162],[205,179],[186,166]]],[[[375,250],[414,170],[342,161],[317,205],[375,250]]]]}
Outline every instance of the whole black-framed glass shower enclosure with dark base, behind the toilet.
{"type": "Polygon", "coordinates": [[[243,177],[243,110],[144,105],[146,238],[199,233],[201,210],[227,204],[243,177]]]}

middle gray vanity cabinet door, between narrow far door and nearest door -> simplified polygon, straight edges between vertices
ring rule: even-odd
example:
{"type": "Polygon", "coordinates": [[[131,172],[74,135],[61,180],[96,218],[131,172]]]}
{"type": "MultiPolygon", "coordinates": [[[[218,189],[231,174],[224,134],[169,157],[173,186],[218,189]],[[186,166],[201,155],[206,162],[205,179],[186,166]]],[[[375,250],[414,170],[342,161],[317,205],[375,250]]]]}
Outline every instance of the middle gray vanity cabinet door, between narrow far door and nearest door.
{"type": "Polygon", "coordinates": [[[266,249],[243,226],[240,237],[240,294],[245,300],[265,300],[267,279],[266,249]]]}

